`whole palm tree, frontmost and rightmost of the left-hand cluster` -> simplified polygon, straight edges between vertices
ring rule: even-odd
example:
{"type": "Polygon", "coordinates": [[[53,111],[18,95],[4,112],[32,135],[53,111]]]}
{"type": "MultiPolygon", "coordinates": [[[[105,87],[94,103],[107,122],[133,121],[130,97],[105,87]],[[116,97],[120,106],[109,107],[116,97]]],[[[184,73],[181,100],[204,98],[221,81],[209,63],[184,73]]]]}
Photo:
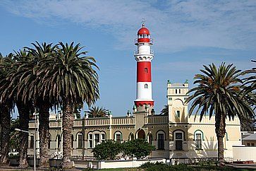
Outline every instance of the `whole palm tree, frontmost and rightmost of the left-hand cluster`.
{"type": "Polygon", "coordinates": [[[71,131],[73,113],[86,102],[92,105],[99,98],[97,69],[93,57],[80,52],[80,44],[59,47],[54,56],[42,62],[42,94],[49,93],[50,101],[63,109],[63,168],[71,168],[71,131]]]}

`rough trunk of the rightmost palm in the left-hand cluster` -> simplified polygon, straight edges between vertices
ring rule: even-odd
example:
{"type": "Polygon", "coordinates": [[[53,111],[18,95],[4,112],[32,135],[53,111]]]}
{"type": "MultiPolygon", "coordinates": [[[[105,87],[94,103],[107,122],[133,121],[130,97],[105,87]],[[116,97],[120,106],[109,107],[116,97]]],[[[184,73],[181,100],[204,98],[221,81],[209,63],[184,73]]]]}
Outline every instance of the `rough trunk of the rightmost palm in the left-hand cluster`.
{"type": "Polygon", "coordinates": [[[62,129],[63,129],[63,169],[70,169],[73,167],[71,163],[71,134],[73,126],[73,107],[70,102],[64,105],[62,129]]]}

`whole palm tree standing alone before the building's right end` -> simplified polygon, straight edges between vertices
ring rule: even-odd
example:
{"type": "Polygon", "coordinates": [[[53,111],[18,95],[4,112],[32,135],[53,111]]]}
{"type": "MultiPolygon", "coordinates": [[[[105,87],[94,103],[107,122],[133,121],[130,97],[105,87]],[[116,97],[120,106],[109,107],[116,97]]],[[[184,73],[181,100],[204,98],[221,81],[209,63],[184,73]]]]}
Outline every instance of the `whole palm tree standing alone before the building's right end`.
{"type": "Polygon", "coordinates": [[[200,112],[200,121],[205,114],[209,113],[209,118],[215,117],[215,132],[218,141],[218,163],[224,163],[224,143],[223,138],[226,133],[226,118],[233,119],[235,116],[240,118],[253,117],[248,99],[240,95],[242,81],[240,80],[240,70],[235,66],[222,63],[217,69],[214,64],[205,66],[201,69],[202,74],[196,74],[194,84],[188,93],[193,93],[186,100],[193,103],[190,107],[191,115],[195,107],[200,112]]]}

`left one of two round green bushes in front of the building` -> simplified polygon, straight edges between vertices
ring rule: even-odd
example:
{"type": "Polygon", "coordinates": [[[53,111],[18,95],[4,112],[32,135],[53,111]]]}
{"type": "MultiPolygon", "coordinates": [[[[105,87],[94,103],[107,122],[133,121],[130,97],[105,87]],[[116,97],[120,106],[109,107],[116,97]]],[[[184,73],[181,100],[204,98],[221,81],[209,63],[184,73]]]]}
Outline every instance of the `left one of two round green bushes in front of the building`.
{"type": "Polygon", "coordinates": [[[116,155],[121,153],[121,144],[116,141],[107,140],[97,144],[92,153],[96,160],[115,160],[116,155]]]}

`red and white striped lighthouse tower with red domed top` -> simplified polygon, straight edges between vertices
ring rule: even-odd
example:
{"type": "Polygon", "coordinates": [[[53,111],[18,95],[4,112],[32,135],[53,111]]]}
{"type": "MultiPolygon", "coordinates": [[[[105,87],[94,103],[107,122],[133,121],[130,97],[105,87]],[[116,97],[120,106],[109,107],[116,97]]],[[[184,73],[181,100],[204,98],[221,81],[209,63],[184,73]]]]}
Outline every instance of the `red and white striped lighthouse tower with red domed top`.
{"type": "Polygon", "coordinates": [[[143,23],[142,28],[138,30],[138,37],[135,40],[135,45],[137,46],[137,50],[134,53],[135,60],[137,61],[137,93],[134,102],[136,107],[143,105],[154,106],[151,78],[151,60],[154,57],[151,49],[152,44],[150,30],[145,28],[143,23]]]}

